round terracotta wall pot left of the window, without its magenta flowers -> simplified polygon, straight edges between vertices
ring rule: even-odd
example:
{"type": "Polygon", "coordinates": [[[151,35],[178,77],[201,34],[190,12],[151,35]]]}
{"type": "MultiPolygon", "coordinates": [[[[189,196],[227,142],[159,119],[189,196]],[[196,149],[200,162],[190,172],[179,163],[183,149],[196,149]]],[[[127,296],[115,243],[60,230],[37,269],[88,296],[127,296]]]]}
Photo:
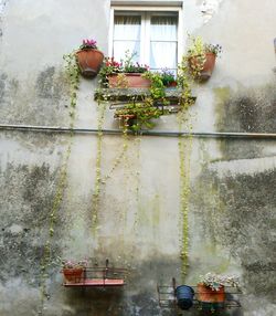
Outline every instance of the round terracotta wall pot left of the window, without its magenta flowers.
{"type": "Polygon", "coordinates": [[[85,49],[76,52],[77,65],[83,76],[94,77],[100,70],[104,54],[94,49],[85,49]]]}

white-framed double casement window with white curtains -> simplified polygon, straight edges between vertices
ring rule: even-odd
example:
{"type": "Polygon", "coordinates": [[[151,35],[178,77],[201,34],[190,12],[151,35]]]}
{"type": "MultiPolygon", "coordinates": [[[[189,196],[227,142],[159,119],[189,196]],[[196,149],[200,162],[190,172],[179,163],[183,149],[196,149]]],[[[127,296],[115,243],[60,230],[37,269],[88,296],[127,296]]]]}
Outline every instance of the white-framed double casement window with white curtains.
{"type": "Polygon", "coordinates": [[[109,55],[119,61],[125,52],[136,53],[134,61],[151,70],[173,72],[181,56],[181,9],[114,7],[109,55]]]}

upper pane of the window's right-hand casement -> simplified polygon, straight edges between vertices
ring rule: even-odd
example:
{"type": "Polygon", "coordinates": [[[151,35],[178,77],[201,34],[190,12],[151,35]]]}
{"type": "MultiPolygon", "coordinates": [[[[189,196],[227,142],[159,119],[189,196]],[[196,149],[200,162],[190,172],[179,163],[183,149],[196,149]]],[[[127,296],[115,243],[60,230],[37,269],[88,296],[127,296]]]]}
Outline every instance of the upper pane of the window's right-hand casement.
{"type": "Polygon", "coordinates": [[[177,41],[177,17],[151,17],[150,41],[177,41]]]}

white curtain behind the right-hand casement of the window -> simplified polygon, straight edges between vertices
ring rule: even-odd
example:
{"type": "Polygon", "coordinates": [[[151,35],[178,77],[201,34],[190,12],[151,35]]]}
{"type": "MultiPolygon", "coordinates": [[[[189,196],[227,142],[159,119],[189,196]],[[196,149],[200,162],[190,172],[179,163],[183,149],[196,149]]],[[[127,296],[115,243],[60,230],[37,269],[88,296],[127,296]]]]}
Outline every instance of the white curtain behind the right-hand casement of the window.
{"type": "Polygon", "coordinates": [[[150,67],[177,69],[177,17],[151,17],[150,67]]]}

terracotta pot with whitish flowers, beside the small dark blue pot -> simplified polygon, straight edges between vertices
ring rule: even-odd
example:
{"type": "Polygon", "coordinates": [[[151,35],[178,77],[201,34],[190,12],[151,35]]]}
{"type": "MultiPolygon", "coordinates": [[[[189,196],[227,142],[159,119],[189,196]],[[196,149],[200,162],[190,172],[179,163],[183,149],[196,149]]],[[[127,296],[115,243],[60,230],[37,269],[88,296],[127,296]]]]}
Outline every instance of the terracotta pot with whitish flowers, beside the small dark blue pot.
{"type": "Polygon", "coordinates": [[[203,303],[223,303],[225,301],[224,286],[238,287],[238,278],[234,275],[211,272],[201,275],[198,284],[198,299],[203,303]]]}

